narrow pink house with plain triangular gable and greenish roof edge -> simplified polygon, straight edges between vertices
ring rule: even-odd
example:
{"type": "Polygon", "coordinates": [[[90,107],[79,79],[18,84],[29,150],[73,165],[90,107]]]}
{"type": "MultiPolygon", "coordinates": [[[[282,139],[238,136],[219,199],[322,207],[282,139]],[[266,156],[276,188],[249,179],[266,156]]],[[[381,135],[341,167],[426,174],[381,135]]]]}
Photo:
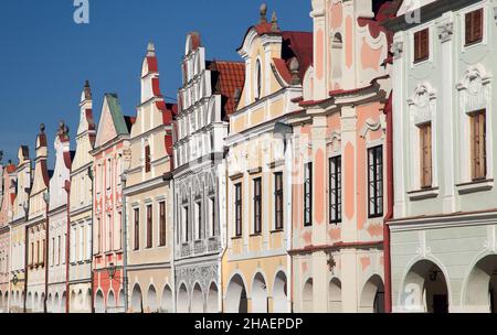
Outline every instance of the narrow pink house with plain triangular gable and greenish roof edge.
{"type": "Polygon", "coordinates": [[[121,171],[124,150],[133,122],[133,118],[123,115],[117,95],[105,95],[95,150],[92,152],[93,294],[97,313],[113,312],[113,307],[124,305],[121,171]],[[109,274],[114,277],[110,278],[109,274]]]}

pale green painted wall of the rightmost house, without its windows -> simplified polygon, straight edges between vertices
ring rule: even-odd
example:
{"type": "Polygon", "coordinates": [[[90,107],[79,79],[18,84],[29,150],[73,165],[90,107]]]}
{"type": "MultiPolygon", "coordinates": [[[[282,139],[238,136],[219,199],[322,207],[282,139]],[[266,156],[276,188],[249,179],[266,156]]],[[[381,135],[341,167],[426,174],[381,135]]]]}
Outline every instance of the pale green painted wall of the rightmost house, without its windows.
{"type": "Polygon", "coordinates": [[[496,283],[488,269],[497,267],[495,7],[495,1],[477,1],[394,35],[394,161],[400,164],[391,229],[393,304],[399,312],[432,311],[434,294],[446,298],[450,312],[490,309],[488,290],[496,283]],[[483,40],[466,45],[465,15],[478,9],[483,40]],[[423,29],[430,31],[430,56],[415,63],[413,35],[423,29]],[[473,181],[469,120],[482,109],[487,173],[473,181]],[[425,122],[432,123],[433,185],[421,188],[417,127],[425,122]]]}

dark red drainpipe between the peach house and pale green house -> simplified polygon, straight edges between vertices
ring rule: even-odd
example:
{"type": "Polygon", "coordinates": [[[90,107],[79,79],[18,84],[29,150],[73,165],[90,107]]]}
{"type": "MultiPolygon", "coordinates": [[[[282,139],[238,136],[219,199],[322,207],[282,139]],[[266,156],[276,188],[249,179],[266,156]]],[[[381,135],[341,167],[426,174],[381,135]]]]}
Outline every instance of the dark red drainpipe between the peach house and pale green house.
{"type": "Polygon", "coordinates": [[[387,206],[388,212],[383,221],[383,266],[384,266],[384,311],[392,313],[392,277],[391,277],[391,251],[390,251],[390,227],[388,221],[393,217],[393,116],[392,98],[390,94],[384,114],[387,115],[387,206]]]}

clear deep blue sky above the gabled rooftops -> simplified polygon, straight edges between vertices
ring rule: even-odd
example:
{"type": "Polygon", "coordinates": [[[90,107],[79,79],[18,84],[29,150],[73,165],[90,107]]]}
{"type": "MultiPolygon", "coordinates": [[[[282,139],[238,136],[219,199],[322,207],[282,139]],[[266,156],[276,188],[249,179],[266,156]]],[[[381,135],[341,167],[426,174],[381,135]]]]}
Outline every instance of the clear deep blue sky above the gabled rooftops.
{"type": "MultiPolygon", "coordinates": [[[[72,138],[78,100],[89,79],[94,114],[103,95],[117,93],[125,114],[135,115],[147,43],[156,44],[161,90],[176,97],[186,35],[199,31],[208,58],[241,61],[235,50],[258,21],[258,0],[89,0],[89,24],[75,24],[73,0],[0,1],[0,150],[17,163],[20,144],[46,125],[53,139],[60,120],[72,138]]],[[[267,0],[283,30],[311,30],[310,0],[267,0]]],[[[74,142],[72,150],[74,150],[74,142]]],[[[51,164],[52,165],[52,164],[51,164]]]]}

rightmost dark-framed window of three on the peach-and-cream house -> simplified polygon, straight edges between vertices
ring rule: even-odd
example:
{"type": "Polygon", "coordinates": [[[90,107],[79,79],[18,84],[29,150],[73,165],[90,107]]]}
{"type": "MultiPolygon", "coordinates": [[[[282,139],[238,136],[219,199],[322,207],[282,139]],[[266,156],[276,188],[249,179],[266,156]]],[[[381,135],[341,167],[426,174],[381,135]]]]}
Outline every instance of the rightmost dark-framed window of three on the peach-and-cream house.
{"type": "Polygon", "coordinates": [[[369,217],[383,216],[383,147],[368,149],[369,217]]]}

